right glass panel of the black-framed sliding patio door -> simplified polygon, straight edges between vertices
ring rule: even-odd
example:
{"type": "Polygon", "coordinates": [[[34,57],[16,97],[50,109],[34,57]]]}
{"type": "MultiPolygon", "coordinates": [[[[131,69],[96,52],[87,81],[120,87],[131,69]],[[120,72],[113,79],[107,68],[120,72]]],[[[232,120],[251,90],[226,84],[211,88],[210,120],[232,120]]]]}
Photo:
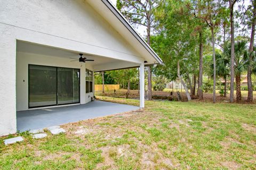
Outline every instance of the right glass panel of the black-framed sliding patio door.
{"type": "Polygon", "coordinates": [[[79,103],[79,69],[57,68],[58,105],[79,103]]]}

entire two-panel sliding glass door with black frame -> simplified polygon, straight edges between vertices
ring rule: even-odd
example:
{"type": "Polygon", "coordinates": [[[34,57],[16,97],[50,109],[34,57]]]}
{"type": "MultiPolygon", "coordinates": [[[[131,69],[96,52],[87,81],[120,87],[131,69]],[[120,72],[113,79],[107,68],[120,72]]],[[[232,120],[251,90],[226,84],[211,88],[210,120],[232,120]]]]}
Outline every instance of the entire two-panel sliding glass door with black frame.
{"type": "Polygon", "coordinates": [[[79,103],[79,69],[29,65],[29,108],[79,103]]]}

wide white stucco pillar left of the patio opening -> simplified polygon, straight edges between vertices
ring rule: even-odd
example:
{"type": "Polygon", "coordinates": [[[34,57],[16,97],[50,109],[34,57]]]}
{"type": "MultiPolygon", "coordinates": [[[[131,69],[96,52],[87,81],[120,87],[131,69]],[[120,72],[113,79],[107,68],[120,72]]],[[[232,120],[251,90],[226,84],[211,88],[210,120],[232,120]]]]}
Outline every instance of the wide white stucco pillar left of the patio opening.
{"type": "Polygon", "coordinates": [[[0,24],[0,136],[17,131],[15,32],[0,24]]]}

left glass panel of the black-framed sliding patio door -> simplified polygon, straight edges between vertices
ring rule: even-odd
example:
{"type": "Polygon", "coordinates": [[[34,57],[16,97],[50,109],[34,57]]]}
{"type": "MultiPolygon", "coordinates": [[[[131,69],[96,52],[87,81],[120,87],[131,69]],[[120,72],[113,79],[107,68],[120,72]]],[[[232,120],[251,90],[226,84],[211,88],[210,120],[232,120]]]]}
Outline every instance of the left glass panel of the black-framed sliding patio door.
{"type": "Polygon", "coordinates": [[[56,67],[29,65],[29,107],[57,105],[56,67]]]}

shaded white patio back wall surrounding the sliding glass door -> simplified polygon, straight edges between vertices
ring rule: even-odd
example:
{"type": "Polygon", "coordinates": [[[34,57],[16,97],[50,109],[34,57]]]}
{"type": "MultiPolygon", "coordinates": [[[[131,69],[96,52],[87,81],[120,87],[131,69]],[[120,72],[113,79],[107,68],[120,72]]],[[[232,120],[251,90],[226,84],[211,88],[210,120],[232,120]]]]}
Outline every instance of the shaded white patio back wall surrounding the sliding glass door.
{"type": "Polygon", "coordinates": [[[28,109],[28,65],[47,65],[80,69],[80,104],[91,101],[93,92],[85,93],[85,69],[92,70],[90,63],[70,62],[69,58],[44,56],[32,53],[17,53],[16,101],[17,111],[28,109]]]}

